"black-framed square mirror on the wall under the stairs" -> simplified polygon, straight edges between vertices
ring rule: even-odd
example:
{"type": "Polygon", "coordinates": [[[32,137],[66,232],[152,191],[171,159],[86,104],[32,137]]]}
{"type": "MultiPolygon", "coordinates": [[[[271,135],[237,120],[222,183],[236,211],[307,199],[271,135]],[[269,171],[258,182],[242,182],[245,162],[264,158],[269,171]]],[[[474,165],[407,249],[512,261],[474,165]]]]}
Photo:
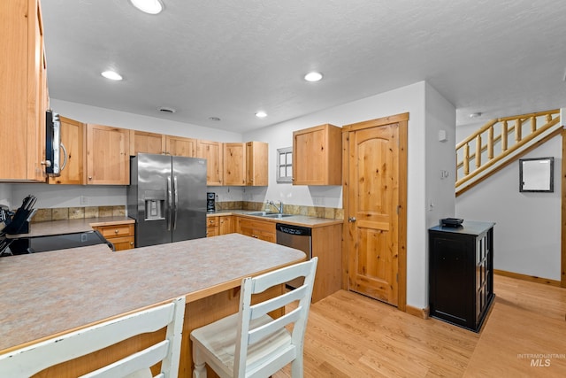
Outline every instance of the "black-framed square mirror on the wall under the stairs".
{"type": "Polygon", "coordinates": [[[555,158],[520,158],[519,191],[554,192],[555,158]]]}

